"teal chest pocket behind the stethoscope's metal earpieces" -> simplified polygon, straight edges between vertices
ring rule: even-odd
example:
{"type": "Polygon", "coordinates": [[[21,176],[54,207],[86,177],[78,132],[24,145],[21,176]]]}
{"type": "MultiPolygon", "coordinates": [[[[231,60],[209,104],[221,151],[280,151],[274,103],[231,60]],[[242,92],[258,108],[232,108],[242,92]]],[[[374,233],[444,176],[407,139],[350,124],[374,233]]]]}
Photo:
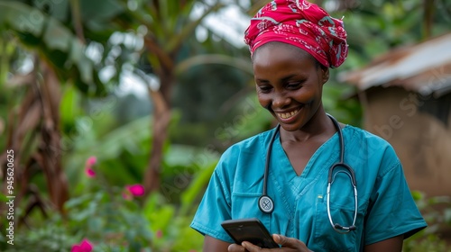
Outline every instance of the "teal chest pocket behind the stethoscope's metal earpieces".
{"type": "MultiPolygon", "coordinates": [[[[349,227],[354,220],[354,187],[349,178],[337,179],[330,191],[330,215],[333,223],[349,227]]],[[[327,195],[318,197],[314,224],[313,244],[321,251],[359,251],[363,234],[364,211],[357,209],[355,226],[347,233],[337,232],[327,213],[327,195]]]]}

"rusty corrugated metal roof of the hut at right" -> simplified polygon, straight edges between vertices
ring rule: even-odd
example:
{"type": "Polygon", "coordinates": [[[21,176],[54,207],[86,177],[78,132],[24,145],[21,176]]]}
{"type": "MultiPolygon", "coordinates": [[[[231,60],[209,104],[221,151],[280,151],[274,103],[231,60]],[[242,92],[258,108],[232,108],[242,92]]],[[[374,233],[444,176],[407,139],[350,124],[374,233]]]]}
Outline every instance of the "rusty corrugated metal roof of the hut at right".
{"type": "Polygon", "coordinates": [[[451,33],[420,44],[394,49],[368,66],[338,76],[359,90],[402,86],[422,95],[451,92],[451,33]]]}

